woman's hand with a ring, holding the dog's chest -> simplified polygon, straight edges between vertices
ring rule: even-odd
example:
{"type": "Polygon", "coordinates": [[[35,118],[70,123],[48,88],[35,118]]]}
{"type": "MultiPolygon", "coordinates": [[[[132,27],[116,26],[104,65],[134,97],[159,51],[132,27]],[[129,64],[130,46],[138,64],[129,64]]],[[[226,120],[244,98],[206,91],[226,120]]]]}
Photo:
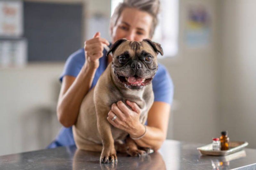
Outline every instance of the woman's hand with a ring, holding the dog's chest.
{"type": "Polygon", "coordinates": [[[144,134],[145,128],[139,121],[141,110],[135,102],[126,101],[130,110],[122,101],[112,104],[107,120],[116,128],[124,130],[132,137],[140,137],[144,134]],[[115,120],[112,120],[114,116],[115,120]]]}

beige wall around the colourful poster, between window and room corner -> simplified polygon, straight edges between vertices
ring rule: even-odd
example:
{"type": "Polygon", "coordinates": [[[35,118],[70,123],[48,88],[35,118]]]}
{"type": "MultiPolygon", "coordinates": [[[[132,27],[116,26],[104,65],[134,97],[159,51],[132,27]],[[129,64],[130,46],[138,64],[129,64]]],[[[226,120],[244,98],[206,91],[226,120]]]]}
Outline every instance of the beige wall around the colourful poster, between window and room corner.
{"type": "Polygon", "coordinates": [[[211,143],[218,137],[218,56],[217,1],[180,0],[179,50],[164,63],[175,86],[168,138],[197,143],[211,143]],[[211,44],[192,49],[185,43],[186,9],[189,4],[203,4],[211,12],[211,44]]]}

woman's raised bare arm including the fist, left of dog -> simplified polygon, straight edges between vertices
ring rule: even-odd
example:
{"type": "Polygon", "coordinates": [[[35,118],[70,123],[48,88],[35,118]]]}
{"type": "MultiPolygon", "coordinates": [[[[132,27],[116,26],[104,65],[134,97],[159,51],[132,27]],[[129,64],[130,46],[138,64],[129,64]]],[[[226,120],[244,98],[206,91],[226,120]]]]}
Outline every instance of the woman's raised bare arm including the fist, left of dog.
{"type": "Polygon", "coordinates": [[[85,64],[78,76],[64,76],[57,104],[59,122],[70,127],[75,124],[83,98],[89,91],[96,69],[99,67],[99,58],[103,56],[103,44],[109,42],[96,33],[93,39],[85,41],[85,64]]]}

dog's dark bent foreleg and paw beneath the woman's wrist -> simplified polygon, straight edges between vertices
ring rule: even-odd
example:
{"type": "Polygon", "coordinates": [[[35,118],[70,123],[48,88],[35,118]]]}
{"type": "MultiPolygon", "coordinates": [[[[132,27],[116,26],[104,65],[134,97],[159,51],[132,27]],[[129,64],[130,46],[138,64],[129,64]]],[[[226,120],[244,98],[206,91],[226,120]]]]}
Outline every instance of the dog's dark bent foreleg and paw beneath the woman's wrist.
{"type": "Polygon", "coordinates": [[[127,144],[127,154],[128,155],[130,155],[130,156],[141,156],[141,155],[146,155],[147,154],[144,150],[138,149],[136,143],[130,137],[127,137],[125,142],[127,144]]]}

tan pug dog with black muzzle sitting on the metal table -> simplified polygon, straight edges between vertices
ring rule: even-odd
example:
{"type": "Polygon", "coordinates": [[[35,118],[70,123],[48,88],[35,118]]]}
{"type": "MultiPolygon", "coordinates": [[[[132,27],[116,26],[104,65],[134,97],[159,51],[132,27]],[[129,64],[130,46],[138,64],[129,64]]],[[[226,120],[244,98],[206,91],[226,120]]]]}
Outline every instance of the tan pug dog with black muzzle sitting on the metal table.
{"type": "Polygon", "coordinates": [[[83,99],[77,122],[73,126],[78,149],[101,151],[102,163],[117,162],[116,150],[127,151],[132,156],[145,153],[136,147],[127,132],[111,125],[107,117],[113,103],[121,100],[126,104],[125,101],[129,100],[140,107],[140,122],[146,122],[154,100],[151,81],[158,69],[157,55],[163,55],[160,44],[148,39],[118,40],[111,46],[107,56],[110,52],[113,61],[83,99]],[[127,148],[118,149],[114,142],[117,140],[126,140],[127,148]]]}

